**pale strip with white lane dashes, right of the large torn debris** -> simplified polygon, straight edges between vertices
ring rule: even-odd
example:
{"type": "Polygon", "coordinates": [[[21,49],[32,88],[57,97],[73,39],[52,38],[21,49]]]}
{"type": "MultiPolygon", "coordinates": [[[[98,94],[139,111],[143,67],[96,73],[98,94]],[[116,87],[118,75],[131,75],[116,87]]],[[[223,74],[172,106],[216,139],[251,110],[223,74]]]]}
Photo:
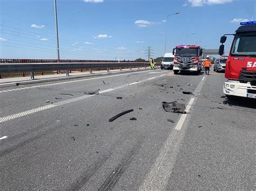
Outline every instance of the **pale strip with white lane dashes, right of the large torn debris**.
{"type": "MultiPolygon", "coordinates": [[[[201,88],[205,81],[199,82],[194,95],[199,95],[201,88]]],[[[196,97],[191,96],[190,102],[188,102],[186,111],[188,112],[192,107],[192,103],[196,97]]],[[[160,153],[154,162],[151,171],[146,175],[145,180],[139,187],[140,190],[165,190],[168,180],[172,174],[172,169],[176,162],[177,155],[179,153],[179,147],[185,135],[185,129],[182,126],[185,122],[187,114],[183,114],[179,119],[179,122],[175,129],[172,129],[171,133],[167,137],[160,153]]]]}

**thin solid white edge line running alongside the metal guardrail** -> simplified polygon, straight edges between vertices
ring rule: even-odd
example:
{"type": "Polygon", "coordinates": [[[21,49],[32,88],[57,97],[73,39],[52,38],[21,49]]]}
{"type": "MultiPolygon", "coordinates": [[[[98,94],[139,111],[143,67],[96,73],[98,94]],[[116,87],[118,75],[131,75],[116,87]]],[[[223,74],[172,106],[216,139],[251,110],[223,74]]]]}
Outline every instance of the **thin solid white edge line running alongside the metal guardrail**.
{"type": "MultiPolygon", "coordinates": [[[[144,73],[144,72],[149,72],[149,71],[146,70],[146,71],[142,71],[142,72],[134,72],[132,74],[144,73]]],[[[51,84],[44,84],[44,85],[24,87],[24,88],[17,88],[17,89],[8,89],[8,90],[2,90],[2,91],[0,91],[0,93],[9,92],[9,91],[32,89],[32,88],[38,88],[38,87],[56,86],[56,85],[59,85],[59,84],[66,84],[66,83],[73,83],[73,82],[82,82],[82,81],[87,81],[87,80],[97,80],[97,79],[103,79],[103,78],[106,78],[106,77],[115,77],[115,76],[129,75],[129,74],[131,74],[131,73],[117,74],[117,75],[110,75],[110,76],[102,76],[102,77],[93,77],[93,78],[90,78],[90,79],[73,80],[73,81],[59,82],[59,83],[51,83],[51,84]]]]}

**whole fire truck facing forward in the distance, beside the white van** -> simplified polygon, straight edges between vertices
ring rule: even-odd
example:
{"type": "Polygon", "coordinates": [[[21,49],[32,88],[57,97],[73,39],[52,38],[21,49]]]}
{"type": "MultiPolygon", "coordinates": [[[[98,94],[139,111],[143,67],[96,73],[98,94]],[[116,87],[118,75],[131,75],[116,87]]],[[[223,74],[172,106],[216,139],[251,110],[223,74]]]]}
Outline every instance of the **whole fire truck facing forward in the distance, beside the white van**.
{"type": "Polygon", "coordinates": [[[196,45],[179,45],[173,48],[174,55],[173,73],[201,71],[201,60],[203,58],[203,48],[196,45]]]}

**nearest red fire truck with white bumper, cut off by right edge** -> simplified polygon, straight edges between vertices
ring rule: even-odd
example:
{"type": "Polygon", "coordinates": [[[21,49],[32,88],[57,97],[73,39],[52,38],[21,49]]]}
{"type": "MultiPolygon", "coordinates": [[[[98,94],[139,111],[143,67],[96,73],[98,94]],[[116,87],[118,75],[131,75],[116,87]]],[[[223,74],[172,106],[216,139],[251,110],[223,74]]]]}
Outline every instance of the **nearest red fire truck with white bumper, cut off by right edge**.
{"type": "Polygon", "coordinates": [[[223,56],[226,36],[234,36],[226,61],[223,93],[227,98],[256,98],[256,21],[240,25],[235,34],[220,38],[219,54],[223,56]]]}

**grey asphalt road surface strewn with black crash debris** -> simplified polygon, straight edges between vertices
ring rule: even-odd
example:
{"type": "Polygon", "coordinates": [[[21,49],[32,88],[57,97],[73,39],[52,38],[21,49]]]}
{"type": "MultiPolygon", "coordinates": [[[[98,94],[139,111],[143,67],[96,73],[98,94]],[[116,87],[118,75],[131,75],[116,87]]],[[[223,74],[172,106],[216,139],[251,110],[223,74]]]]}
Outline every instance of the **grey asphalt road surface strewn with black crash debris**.
{"type": "Polygon", "coordinates": [[[141,69],[0,88],[0,189],[255,190],[256,104],[224,81],[141,69]]]}

